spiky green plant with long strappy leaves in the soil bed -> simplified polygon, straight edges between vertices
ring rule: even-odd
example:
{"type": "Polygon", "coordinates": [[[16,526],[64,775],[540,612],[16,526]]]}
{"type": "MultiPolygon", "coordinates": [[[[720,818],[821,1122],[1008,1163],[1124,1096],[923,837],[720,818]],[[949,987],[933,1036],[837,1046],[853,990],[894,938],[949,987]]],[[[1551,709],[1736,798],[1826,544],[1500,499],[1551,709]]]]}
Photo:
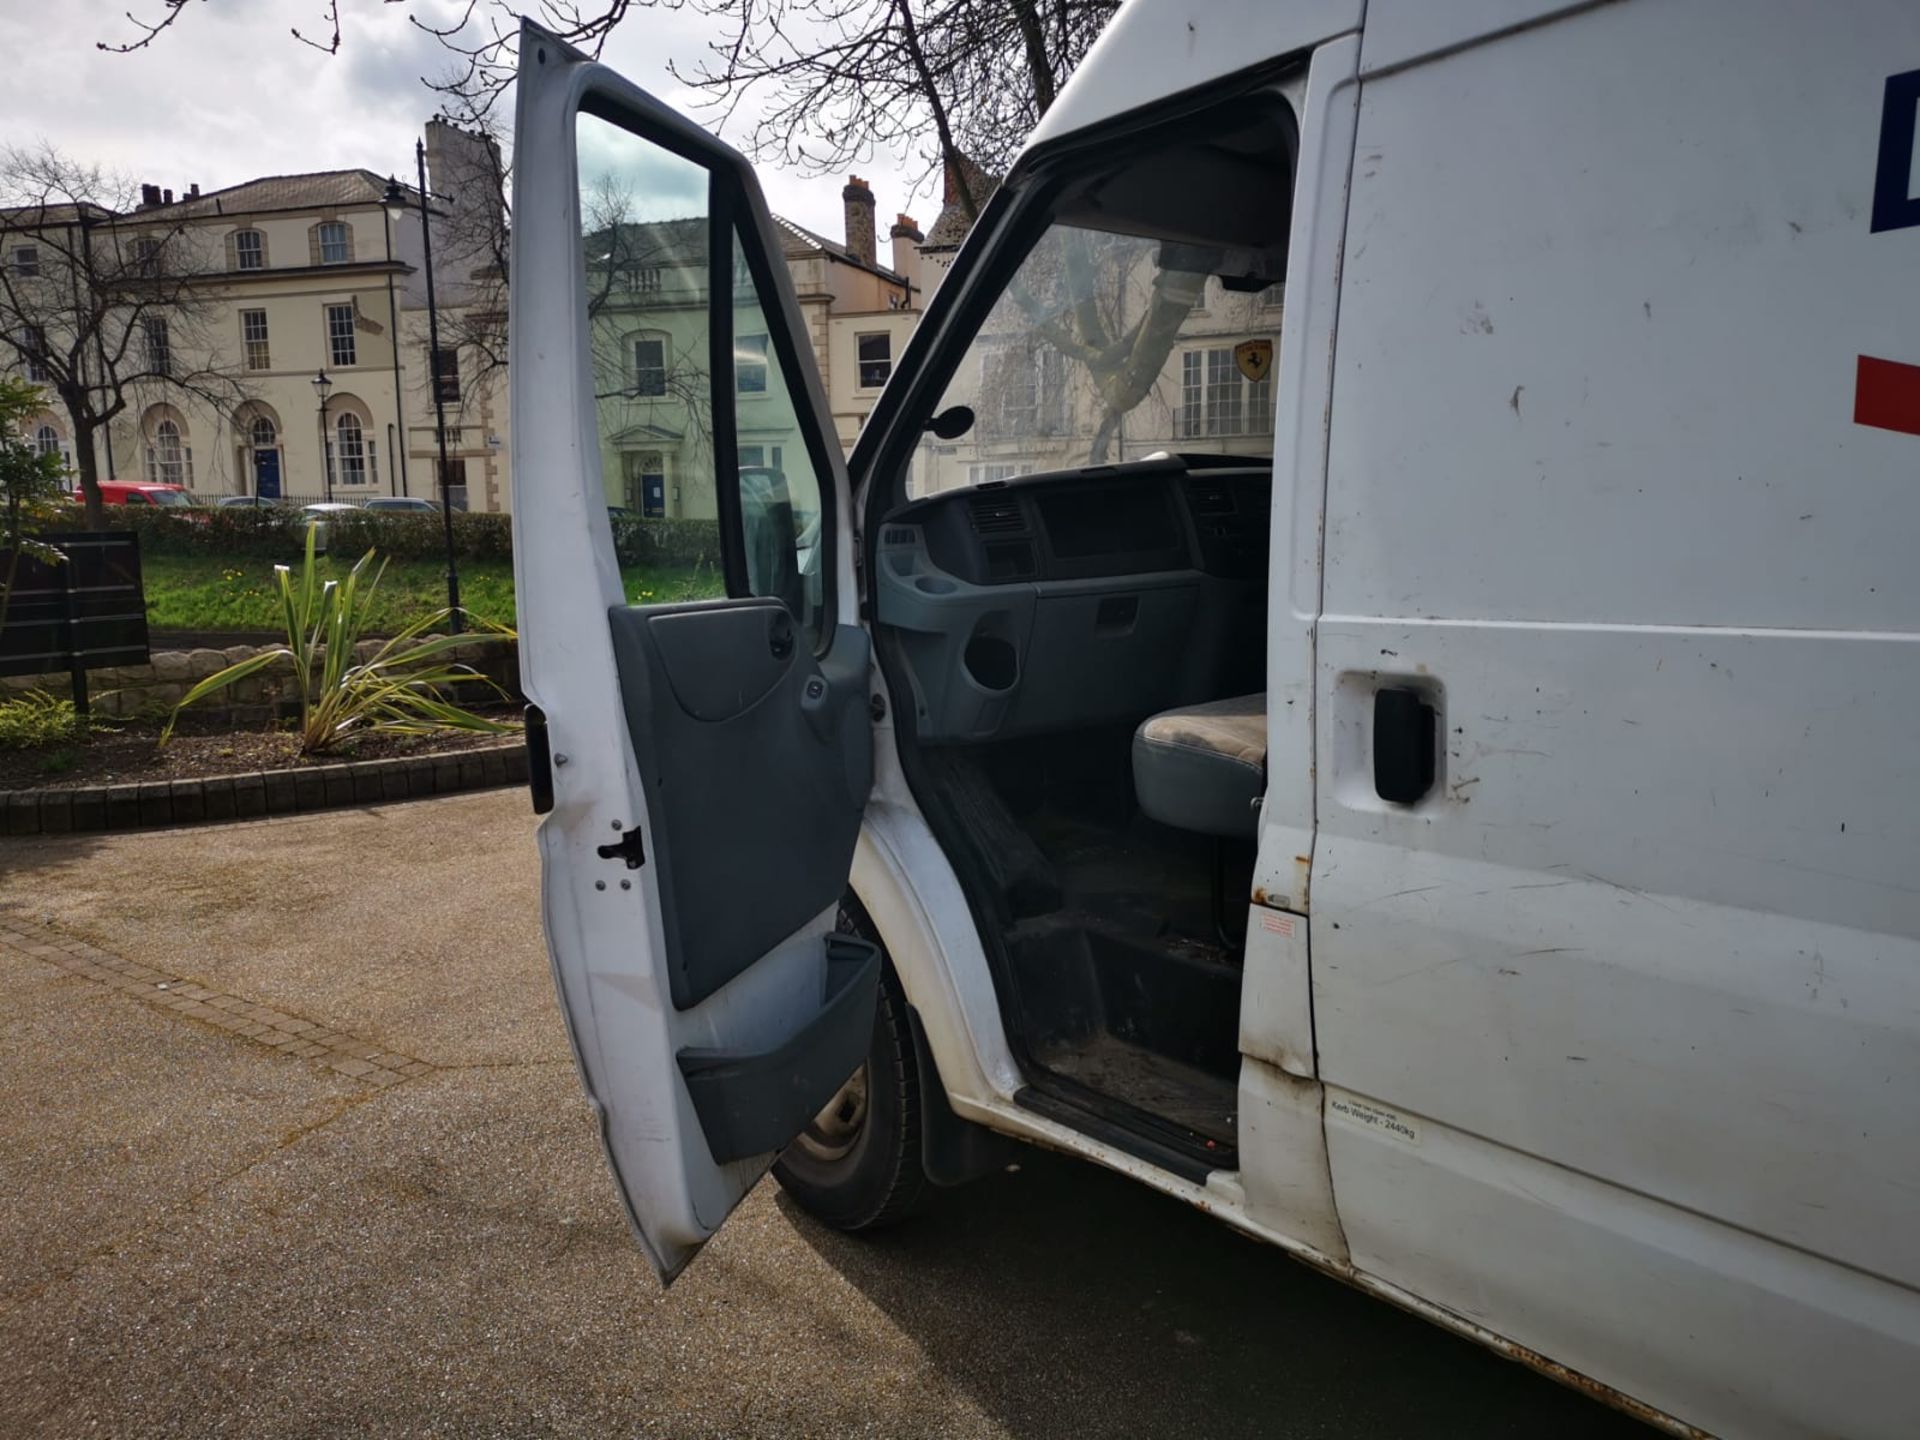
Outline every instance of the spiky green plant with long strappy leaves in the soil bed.
{"type": "Polygon", "coordinates": [[[286,564],[276,564],[280,586],[280,618],[286,643],[228,664],[194,685],[173,707],[167,728],[159,735],[165,745],[180,720],[180,710],[204,701],[248,676],[275,666],[292,668],[300,682],[300,749],[323,755],[355,733],[430,735],[442,730],[476,730],[507,733],[518,726],[492,720],[455,705],[445,691],[455,685],[482,685],[499,699],[507,693],[470,664],[449,657],[451,651],[474,641],[511,639],[513,632],[465,614],[468,626],[482,634],[430,636],[445,626],[451,611],[432,611],[380,645],[365,660],[353,651],[372,611],[374,591],[386,572],[386,561],[374,568],[374,553],[367,551],[346,580],[319,578],[313,553],[315,526],[307,526],[307,553],[300,578],[286,564]]]}

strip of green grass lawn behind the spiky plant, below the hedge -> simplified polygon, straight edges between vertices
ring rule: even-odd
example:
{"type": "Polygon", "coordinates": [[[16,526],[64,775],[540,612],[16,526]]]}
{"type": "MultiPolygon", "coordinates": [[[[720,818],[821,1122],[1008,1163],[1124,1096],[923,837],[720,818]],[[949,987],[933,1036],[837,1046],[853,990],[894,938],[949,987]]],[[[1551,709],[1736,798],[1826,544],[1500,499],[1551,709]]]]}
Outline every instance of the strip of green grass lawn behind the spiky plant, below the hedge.
{"type": "MultiPolygon", "coordinates": [[[[348,559],[319,557],[321,576],[338,580],[348,559]]],[[[273,561],[223,555],[142,555],[146,620],[156,630],[278,630],[280,591],[273,561]]],[[[724,584],[716,568],[626,566],[632,603],[707,599],[724,584]]],[[[390,561],[374,597],[371,628],[392,632],[447,603],[442,561],[390,561]]],[[[513,563],[461,561],[461,603],[497,624],[513,624],[513,563]]]]}

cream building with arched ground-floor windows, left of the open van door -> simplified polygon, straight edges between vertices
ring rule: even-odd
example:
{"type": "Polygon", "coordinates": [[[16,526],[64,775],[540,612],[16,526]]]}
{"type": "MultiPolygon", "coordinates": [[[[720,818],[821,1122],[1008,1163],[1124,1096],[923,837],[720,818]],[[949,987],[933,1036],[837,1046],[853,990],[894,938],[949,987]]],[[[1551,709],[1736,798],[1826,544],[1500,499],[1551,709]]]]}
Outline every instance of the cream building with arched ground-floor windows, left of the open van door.
{"type": "MultiPolygon", "coordinates": [[[[486,330],[476,313],[505,309],[484,242],[499,232],[497,163],[486,140],[444,121],[426,140],[451,495],[457,509],[505,509],[505,367],[461,344],[486,330]]],[[[196,376],[131,386],[98,447],[100,478],[182,484],[202,501],[438,499],[419,194],[403,188],[397,219],[386,194],[372,171],[321,171],[179,200],[148,184],[136,209],[96,215],[94,244],[161,246],[159,263],[188,278],[190,301],[156,315],[138,369],[196,376]]],[[[58,405],[33,432],[71,455],[58,405]]]]}

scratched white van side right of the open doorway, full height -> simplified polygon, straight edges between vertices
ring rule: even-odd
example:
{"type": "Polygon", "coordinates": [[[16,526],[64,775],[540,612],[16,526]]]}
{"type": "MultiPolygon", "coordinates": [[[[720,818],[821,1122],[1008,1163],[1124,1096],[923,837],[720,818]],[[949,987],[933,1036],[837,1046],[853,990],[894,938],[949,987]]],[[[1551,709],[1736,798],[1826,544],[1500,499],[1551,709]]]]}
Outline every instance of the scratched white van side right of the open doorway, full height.
{"type": "Polygon", "coordinates": [[[1636,2],[1361,86],[1313,1020],[1428,1144],[1331,1121],[1340,1221],[1730,1434],[1920,1413],[1920,438],[1853,424],[1920,361],[1912,67],[1912,6],[1636,2]],[[1442,705],[1411,810],[1380,684],[1442,705]]]}

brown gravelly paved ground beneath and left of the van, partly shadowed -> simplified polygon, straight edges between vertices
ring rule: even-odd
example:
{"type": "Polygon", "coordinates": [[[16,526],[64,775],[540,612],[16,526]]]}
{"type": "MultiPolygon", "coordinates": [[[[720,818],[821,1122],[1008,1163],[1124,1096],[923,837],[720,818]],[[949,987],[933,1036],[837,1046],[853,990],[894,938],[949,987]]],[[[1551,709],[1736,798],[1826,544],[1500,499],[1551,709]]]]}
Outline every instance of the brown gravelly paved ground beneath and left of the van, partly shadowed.
{"type": "Polygon", "coordinates": [[[0,1434],[1644,1434],[1039,1152],[876,1240],[762,1185],[662,1294],[528,829],[0,843],[0,1434]]]}

